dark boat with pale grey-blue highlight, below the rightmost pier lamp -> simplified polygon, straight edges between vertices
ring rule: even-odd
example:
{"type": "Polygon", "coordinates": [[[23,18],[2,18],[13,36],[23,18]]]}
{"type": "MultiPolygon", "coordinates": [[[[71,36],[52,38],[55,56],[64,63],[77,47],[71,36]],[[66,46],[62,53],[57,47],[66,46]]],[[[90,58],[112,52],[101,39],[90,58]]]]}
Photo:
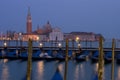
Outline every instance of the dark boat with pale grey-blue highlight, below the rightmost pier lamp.
{"type": "Polygon", "coordinates": [[[79,56],[76,56],[76,61],[85,61],[89,58],[89,51],[83,51],[79,56]]]}

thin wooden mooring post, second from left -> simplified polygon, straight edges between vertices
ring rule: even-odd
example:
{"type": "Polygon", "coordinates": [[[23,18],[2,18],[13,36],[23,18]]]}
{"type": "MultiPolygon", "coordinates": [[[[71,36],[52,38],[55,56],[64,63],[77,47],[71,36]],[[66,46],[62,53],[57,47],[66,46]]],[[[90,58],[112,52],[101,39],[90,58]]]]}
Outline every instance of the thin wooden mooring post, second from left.
{"type": "Polygon", "coordinates": [[[65,57],[64,80],[67,80],[67,68],[68,68],[68,39],[66,39],[66,57],[65,57]]]}

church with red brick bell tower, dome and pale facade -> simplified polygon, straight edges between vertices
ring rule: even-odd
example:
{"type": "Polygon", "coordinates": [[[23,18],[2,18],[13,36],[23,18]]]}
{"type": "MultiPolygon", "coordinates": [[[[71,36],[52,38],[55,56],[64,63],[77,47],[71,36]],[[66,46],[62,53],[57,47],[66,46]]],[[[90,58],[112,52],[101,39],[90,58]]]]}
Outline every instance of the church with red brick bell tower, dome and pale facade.
{"type": "Polygon", "coordinates": [[[28,41],[29,39],[32,39],[33,41],[53,41],[55,40],[54,36],[58,37],[58,40],[63,40],[63,33],[56,28],[52,28],[49,21],[47,21],[47,23],[42,28],[40,28],[38,25],[37,30],[32,31],[32,17],[30,13],[30,8],[28,8],[26,33],[22,34],[22,40],[28,41]],[[60,37],[61,39],[59,39],[60,37]]]}

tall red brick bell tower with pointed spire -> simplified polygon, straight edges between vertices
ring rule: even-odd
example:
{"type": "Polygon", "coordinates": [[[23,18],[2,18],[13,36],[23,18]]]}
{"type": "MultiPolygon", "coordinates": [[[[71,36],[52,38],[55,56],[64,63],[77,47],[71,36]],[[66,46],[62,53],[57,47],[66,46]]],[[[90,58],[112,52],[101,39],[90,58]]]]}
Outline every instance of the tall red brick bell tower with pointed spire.
{"type": "Polygon", "coordinates": [[[28,8],[28,14],[27,14],[27,30],[26,32],[28,34],[32,33],[32,18],[31,18],[31,14],[30,14],[30,7],[28,8]]]}

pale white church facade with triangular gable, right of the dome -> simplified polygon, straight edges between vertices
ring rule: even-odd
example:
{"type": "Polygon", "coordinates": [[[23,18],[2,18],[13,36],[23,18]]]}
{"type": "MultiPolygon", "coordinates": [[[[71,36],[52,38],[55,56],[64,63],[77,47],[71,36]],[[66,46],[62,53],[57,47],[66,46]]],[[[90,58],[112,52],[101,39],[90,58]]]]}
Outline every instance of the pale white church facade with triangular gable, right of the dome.
{"type": "Polygon", "coordinates": [[[53,28],[52,32],[49,34],[50,41],[62,41],[64,40],[64,35],[59,28],[53,28]]]}

